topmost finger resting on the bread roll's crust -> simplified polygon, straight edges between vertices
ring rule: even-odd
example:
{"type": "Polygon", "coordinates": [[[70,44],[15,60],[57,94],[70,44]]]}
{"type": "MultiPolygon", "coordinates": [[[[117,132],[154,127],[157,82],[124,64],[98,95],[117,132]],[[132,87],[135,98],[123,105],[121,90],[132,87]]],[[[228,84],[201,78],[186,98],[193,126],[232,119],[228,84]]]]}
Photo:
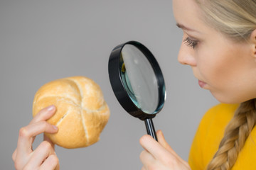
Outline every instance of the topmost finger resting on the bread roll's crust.
{"type": "Polygon", "coordinates": [[[36,116],[33,118],[33,120],[31,120],[31,123],[29,124],[36,123],[42,120],[48,120],[50,117],[54,115],[55,111],[56,107],[53,105],[43,108],[36,114],[36,116]]]}

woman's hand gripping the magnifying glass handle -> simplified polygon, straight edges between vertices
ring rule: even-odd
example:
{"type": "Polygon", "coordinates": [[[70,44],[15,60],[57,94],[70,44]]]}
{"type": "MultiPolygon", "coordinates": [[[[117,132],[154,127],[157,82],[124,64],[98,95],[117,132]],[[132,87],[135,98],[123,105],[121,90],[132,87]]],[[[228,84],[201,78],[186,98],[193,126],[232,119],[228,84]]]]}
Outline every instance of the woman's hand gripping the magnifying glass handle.
{"type": "Polygon", "coordinates": [[[140,154],[142,170],[178,170],[191,169],[187,162],[171,149],[170,145],[164,139],[164,134],[161,130],[156,132],[159,142],[149,135],[144,135],[140,140],[140,144],[144,147],[144,151],[140,154]]]}

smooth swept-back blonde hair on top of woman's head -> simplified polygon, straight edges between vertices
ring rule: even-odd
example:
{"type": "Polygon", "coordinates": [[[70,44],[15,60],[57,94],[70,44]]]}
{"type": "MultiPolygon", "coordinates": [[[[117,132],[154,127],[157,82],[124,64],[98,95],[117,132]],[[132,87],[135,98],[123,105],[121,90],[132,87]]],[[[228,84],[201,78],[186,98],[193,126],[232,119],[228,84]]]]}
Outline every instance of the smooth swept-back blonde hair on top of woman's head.
{"type": "Polygon", "coordinates": [[[247,40],[256,28],[255,0],[196,0],[203,20],[233,40],[247,40]]]}

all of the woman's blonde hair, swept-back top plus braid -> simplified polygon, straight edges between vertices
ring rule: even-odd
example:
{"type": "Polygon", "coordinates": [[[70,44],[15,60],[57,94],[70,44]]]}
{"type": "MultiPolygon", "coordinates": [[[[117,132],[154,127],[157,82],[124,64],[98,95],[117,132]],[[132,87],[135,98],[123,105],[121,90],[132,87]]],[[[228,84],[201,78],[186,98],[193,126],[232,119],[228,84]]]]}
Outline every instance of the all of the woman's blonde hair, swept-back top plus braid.
{"type": "MultiPolygon", "coordinates": [[[[201,8],[203,21],[232,40],[247,41],[256,29],[256,0],[195,1],[201,8]]],[[[255,123],[256,99],[241,103],[207,169],[231,169],[255,123]]]]}

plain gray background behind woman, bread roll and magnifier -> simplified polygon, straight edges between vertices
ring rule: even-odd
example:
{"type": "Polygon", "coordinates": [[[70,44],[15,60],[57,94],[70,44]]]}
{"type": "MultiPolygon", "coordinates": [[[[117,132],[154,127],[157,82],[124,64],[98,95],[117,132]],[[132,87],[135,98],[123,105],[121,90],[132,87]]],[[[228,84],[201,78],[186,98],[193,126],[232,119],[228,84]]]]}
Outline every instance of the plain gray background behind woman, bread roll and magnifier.
{"type": "MultiPolygon", "coordinates": [[[[114,97],[107,72],[112,49],[128,40],[149,47],[166,81],[164,109],[154,118],[185,160],[205,111],[218,101],[200,89],[191,68],[177,62],[182,31],[171,1],[0,1],[0,169],[14,169],[19,128],[31,118],[33,96],[48,81],[82,75],[102,87],[110,106],[100,142],[82,149],[56,147],[61,169],[141,169],[144,123],[114,97]]],[[[42,140],[40,135],[34,147],[42,140]]]]}

